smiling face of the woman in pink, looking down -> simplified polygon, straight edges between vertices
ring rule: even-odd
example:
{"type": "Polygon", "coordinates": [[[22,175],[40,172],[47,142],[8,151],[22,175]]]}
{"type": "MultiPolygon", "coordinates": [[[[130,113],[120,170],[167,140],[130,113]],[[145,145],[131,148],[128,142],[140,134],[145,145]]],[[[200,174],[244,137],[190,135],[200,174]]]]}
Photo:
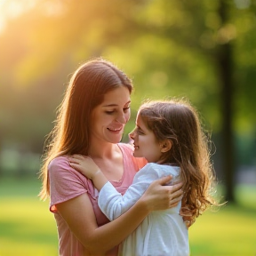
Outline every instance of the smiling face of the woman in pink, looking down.
{"type": "Polygon", "coordinates": [[[125,86],[106,93],[103,102],[92,110],[91,138],[99,142],[120,142],[124,124],[131,115],[130,103],[130,92],[125,86]]]}

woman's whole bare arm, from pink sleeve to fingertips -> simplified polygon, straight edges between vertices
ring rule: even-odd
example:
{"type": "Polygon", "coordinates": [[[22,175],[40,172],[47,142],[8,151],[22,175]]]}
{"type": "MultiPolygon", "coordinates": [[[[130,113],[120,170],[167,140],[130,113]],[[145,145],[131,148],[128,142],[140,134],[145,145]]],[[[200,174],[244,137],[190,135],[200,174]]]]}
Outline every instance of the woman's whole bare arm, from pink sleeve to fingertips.
{"type": "Polygon", "coordinates": [[[104,255],[129,236],[149,212],[164,210],[178,204],[182,197],[182,191],[179,190],[181,184],[163,186],[170,180],[171,177],[164,177],[152,182],[132,208],[99,228],[87,194],[76,196],[56,206],[85,250],[92,255],[104,255]]]}

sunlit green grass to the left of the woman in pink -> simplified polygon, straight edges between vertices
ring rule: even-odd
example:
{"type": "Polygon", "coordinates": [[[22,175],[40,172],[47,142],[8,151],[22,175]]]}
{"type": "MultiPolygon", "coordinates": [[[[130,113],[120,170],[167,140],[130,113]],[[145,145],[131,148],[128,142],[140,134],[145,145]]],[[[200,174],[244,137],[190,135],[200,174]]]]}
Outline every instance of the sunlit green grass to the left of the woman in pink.
{"type": "Polygon", "coordinates": [[[57,256],[49,202],[39,201],[38,180],[0,181],[0,255],[57,256]]]}

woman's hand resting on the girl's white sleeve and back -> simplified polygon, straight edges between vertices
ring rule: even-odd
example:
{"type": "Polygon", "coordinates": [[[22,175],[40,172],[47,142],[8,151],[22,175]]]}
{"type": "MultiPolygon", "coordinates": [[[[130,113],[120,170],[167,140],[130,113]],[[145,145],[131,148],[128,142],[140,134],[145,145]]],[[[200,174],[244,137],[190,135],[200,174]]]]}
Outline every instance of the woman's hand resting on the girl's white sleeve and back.
{"type": "Polygon", "coordinates": [[[166,210],[179,204],[183,196],[182,183],[164,186],[170,180],[172,180],[172,176],[155,180],[150,184],[144,195],[140,197],[148,211],[166,210]]]}

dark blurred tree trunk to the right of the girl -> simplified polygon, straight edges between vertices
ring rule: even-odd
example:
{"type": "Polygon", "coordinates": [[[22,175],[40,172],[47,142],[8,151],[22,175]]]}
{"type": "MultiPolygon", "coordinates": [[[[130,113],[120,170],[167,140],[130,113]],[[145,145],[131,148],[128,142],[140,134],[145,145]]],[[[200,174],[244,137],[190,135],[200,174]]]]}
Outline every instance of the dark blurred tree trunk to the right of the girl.
{"type": "MultiPolygon", "coordinates": [[[[220,0],[220,18],[222,20],[222,28],[227,24],[228,20],[228,1],[220,0]]],[[[224,30],[225,33],[225,30],[224,30]]],[[[225,34],[224,34],[225,36],[225,34]]],[[[225,38],[224,38],[225,41],[225,38]]],[[[234,196],[234,135],[233,135],[233,92],[234,81],[233,61],[232,61],[232,45],[230,41],[222,42],[219,46],[218,66],[220,74],[221,86],[221,112],[222,112],[222,145],[223,161],[222,168],[226,185],[226,199],[228,202],[235,202],[234,196]]]]}

